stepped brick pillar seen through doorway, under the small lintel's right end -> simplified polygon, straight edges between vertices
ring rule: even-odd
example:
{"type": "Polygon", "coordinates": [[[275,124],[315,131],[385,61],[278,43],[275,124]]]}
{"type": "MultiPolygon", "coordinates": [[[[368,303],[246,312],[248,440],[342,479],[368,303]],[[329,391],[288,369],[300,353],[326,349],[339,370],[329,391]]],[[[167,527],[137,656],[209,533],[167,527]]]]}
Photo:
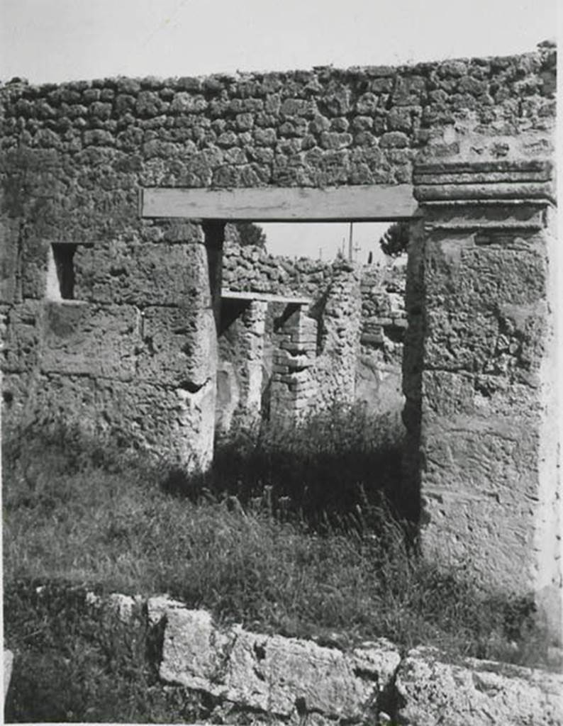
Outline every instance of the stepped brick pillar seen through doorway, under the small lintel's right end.
{"type": "Polygon", "coordinates": [[[291,312],[276,335],[270,420],[296,420],[315,395],[317,386],[310,367],[317,355],[317,322],[301,306],[291,312]]]}

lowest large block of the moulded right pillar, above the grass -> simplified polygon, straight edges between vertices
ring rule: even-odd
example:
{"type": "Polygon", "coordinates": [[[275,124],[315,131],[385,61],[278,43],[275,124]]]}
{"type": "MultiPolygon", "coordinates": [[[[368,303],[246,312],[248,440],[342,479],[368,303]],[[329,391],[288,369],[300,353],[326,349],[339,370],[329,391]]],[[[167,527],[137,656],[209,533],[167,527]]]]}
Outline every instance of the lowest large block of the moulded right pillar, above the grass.
{"type": "Polygon", "coordinates": [[[495,587],[531,592],[538,422],[490,412],[425,416],[421,437],[424,551],[446,562],[471,561],[471,570],[495,587]]]}

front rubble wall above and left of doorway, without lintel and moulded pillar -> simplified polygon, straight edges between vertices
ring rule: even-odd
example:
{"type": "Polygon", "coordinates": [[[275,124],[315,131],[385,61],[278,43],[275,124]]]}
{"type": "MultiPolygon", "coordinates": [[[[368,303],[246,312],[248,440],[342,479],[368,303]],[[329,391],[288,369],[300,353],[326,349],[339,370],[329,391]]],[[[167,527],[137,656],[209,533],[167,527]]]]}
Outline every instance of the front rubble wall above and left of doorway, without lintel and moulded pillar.
{"type": "Polygon", "coordinates": [[[173,439],[187,446],[178,411],[201,410],[193,396],[215,375],[211,359],[204,370],[203,235],[139,219],[139,188],[392,184],[410,181],[419,158],[549,153],[554,73],[554,50],[541,48],[400,68],[4,84],[4,415],[56,400],[65,416],[123,426],[147,445],[180,427],[173,439]],[[48,299],[52,245],[78,245],[84,305],[48,299]],[[174,320],[182,305],[185,326],[174,320]],[[110,330],[103,349],[86,332],[98,325],[110,330]],[[145,338],[173,340],[176,363],[145,338]],[[120,399],[130,414],[113,413],[108,401],[120,399]]]}

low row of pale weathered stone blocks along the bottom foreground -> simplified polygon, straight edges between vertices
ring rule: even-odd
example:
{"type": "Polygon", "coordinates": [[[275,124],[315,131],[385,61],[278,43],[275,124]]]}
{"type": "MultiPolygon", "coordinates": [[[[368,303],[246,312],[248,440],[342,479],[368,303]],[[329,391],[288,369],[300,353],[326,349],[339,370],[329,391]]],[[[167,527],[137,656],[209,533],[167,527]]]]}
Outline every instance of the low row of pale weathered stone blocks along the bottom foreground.
{"type": "Polygon", "coordinates": [[[210,724],[563,725],[563,674],[475,658],[453,664],[436,648],[404,652],[385,638],[343,650],[219,627],[166,595],[86,600],[124,622],[141,609],[159,634],[163,687],[211,699],[210,724]]]}

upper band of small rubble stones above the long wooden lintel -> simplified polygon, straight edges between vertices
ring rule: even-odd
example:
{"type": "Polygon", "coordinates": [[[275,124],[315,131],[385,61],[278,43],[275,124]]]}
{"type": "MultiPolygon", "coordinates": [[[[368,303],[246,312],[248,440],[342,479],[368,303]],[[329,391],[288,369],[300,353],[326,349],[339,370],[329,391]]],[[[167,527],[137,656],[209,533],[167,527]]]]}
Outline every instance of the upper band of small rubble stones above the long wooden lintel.
{"type": "Polygon", "coordinates": [[[52,202],[65,209],[68,237],[77,242],[81,198],[102,224],[116,196],[134,205],[128,192],[135,183],[410,181],[420,150],[452,155],[470,131],[498,157],[509,155],[514,142],[534,155],[546,144],[527,134],[550,126],[554,74],[554,50],[542,48],[400,68],[9,83],[2,88],[2,145],[67,158],[55,174],[62,187],[52,189],[52,202]],[[84,166],[96,171],[85,174],[84,166]],[[94,200],[106,204],[94,208],[94,200]]]}

